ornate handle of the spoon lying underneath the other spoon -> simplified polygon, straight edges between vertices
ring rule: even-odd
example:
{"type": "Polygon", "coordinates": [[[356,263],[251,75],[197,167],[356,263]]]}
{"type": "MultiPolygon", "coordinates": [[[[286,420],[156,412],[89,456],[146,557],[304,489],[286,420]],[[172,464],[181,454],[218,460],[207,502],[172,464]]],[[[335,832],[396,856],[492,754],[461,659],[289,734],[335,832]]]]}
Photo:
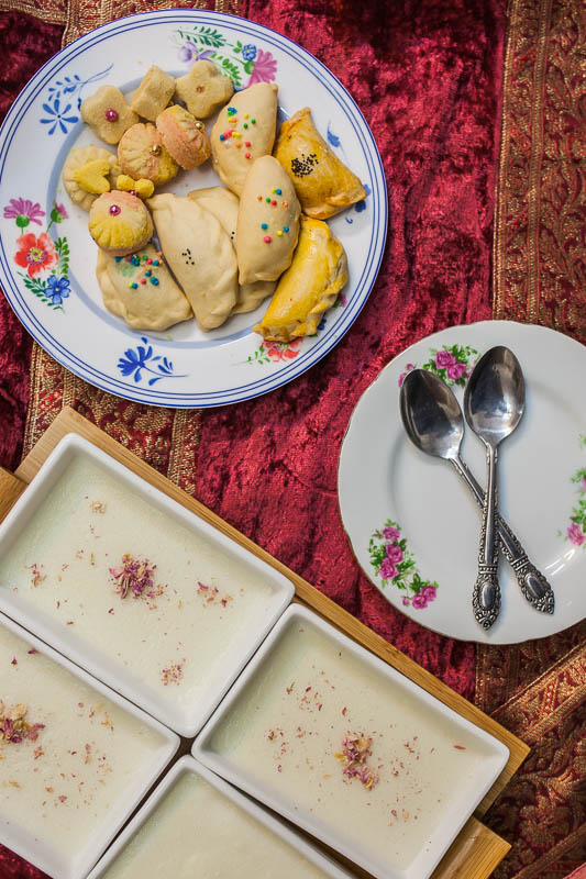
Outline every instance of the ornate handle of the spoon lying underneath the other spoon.
{"type": "MultiPolygon", "coordinates": [[[[467,464],[463,461],[461,457],[455,459],[451,458],[451,461],[476,498],[478,505],[484,507],[484,490],[475,479],[467,464]]],[[[530,561],[521,542],[500,515],[497,519],[497,527],[498,536],[500,537],[500,546],[507,561],[515,571],[517,582],[519,583],[523,597],[535,610],[542,613],[553,613],[555,597],[550,583],[543,574],[530,561]]]]}

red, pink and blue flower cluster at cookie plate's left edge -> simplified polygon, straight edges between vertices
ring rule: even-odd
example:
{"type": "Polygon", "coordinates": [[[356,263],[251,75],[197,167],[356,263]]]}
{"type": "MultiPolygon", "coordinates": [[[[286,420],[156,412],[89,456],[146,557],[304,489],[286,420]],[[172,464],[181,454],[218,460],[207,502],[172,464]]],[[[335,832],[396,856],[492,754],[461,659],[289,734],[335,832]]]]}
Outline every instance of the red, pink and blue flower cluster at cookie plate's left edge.
{"type": "MultiPolygon", "coordinates": [[[[25,230],[31,223],[42,226],[41,218],[45,216],[45,211],[38,202],[18,198],[10,199],[3,215],[5,220],[14,220],[19,230],[25,230]]],[[[63,300],[69,298],[69,245],[65,236],[53,241],[48,231],[54,223],[63,223],[67,219],[65,207],[55,202],[46,230],[40,234],[23,232],[16,238],[14,254],[14,263],[24,269],[16,274],[26,289],[56,311],[64,311],[63,300]]]]}

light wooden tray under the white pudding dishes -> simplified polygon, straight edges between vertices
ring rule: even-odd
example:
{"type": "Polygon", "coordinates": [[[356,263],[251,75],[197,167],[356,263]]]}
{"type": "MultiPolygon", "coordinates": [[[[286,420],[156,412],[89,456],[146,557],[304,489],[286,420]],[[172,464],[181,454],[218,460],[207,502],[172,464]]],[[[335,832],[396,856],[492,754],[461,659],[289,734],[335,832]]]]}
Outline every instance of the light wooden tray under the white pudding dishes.
{"type": "MultiPolygon", "coordinates": [[[[292,570],[289,570],[289,568],[280,561],[245,537],[244,534],[241,534],[236,528],[229,525],[228,522],[224,522],[202,503],[191,498],[185,491],[181,491],[175,483],[170,482],[164,476],[161,476],[161,474],[73,409],[65,408],[59,413],[31,453],[24,458],[14,476],[8,472],[8,470],[0,468],[0,521],[15,503],[27,483],[34,478],[55,445],[67,433],[77,433],[85,437],[90,443],[111,455],[111,457],[124,464],[130,470],[133,470],[152,486],[158,488],[165,494],[168,494],[169,498],[178,501],[178,503],[183,504],[187,510],[199,515],[201,519],[206,520],[206,522],[209,522],[219,531],[232,537],[232,539],[241,546],[246,547],[251,553],[254,553],[254,555],[272,565],[294,583],[296,601],[311,608],[332,625],[336,626],[336,628],[372,650],[436,699],[440,699],[458,714],[467,717],[477,726],[491,733],[491,735],[507,745],[510,750],[510,757],[505,769],[478,805],[475,815],[464,825],[433,872],[433,879],[487,879],[502,860],[510,845],[482,824],[478,819],[485,814],[490,804],[509,782],[511,776],[524,760],[529,754],[528,745],[509,733],[491,717],[484,714],[454,690],[451,690],[450,687],[442,683],[442,681],[438,680],[438,678],[433,677],[429,671],[425,671],[425,669],[421,668],[421,666],[412,659],[409,659],[391,644],[388,644],[384,638],[376,635],[367,626],[352,616],[352,614],[347,613],[347,611],[344,611],[331,599],[327,598],[327,596],[319,592],[292,570]]],[[[356,876],[367,879],[368,874],[364,870],[355,865],[351,865],[338,855],[336,857],[342,860],[342,863],[345,863],[356,876]]]]}

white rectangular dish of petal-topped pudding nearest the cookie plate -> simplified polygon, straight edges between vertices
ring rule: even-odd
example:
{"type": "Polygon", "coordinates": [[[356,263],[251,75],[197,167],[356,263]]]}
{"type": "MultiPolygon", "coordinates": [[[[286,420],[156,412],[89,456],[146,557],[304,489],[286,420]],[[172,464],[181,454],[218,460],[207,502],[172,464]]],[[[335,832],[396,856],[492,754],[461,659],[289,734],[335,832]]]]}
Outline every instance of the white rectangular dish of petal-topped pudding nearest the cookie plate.
{"type": "Polygon", "coordinates": [[[76,434],[0,525],[0,610],[184,736],[292,594],[281,574],[76,434]]]}

